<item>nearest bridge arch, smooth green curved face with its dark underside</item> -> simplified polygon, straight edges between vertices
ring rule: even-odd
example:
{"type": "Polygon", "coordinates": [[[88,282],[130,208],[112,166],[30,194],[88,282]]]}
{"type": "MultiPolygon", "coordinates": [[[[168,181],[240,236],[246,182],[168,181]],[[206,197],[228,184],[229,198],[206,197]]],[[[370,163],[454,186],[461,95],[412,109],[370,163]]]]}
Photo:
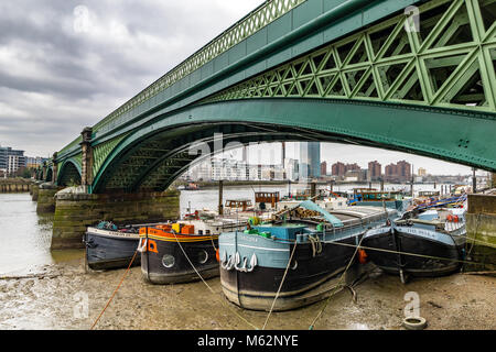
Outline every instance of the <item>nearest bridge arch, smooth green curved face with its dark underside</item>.
{"type": "MultiPolygon", "coordinates": [[[[198,141],[354,143],[496,170],[494,114],[446,108],[336,99],[260,98],[204,103],[155,113],[112,150],[93,193],[164,189],[196,157],[198,141]]],[[[213,148],[212,148],[213,150],[213,148]]]]}

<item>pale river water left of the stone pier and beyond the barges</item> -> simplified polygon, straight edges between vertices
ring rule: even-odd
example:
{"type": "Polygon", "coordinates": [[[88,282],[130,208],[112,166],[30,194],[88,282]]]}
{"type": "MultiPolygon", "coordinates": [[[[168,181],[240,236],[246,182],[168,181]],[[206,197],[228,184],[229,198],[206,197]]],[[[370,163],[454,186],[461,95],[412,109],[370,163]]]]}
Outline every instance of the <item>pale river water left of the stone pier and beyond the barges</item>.
{"type": "MultiPolygon", "coordinates": [[[[308,185],[291,184],[291,191],[302,190],[308,185]]],[[[336,191],[347,191],[357,185],[335,186],[336,191]]],[[[362,186],[363,187],[363,186],[362,186]]],[[[379,184],[373,184],[379,188],[379,184]]],[[[438,185],[438,190],[440,189],[438,185]]],[[[324,188],[320,186],[319,188],[324,188]]],[[[408,185],[385,185],[385,189],[409,189],[408,185]]],[[[414,185],[414,190],[433,190],[433,185],[414,185]]],[[[289,193],[288,185],[274,186],[225,186],[224,202],[227,199],[250,199],[255,201],[255,191],[289,193]]],[[[181,193],[181,215],[195,209],[217,209],[217,188],[183,190],[181,193]]],[[[29,194],[0,194],[0,276],[26,275],[39,273],[46,265],[80,256],[80,251],[50,251],[52,241],[52,216],[39,216],[36,202],[29,194]]]]}

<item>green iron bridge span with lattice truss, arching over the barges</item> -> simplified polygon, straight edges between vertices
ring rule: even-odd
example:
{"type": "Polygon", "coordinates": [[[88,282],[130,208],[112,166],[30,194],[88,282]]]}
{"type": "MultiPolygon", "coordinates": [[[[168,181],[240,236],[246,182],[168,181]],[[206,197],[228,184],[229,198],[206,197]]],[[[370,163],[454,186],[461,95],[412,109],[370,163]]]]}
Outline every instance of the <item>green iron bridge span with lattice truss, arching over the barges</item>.
{"type": "MultiPolygon", "coordinates": [[[[412,3],[294,1],[265,26],[250,22],[239,59],[195,80],[241,47],[217,44],[201,68],[150,86],[94,128],[90,191],[166,186],[195,161],[185,147],[215,123],[228,135],[272,125],[273,140],[352,141],[495,170],[496,0],[420,2],[418,32],[406,30],[411,15],[390,16],[412,3]],[[271,29],[281,34],[269,41],[271,29]]],[[[238,141],[257,138],[270,136],[238,141]]],[[[57,160],[80,155],[79,140],[57,160]]]]}

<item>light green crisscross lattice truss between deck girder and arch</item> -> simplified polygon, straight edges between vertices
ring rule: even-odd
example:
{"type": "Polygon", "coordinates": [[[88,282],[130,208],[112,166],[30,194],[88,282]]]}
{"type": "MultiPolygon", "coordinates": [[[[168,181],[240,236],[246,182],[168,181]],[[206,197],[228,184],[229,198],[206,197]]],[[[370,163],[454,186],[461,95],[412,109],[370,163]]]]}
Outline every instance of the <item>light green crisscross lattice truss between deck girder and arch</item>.
{"type": "Polygon", "coordinates": [[[477,24],[478,1],[438,0],[419,9],[420,32],[406,31],[410,18],[401,14],[204,102],[336,98],[496,111],[496,41],[477,24]]]}

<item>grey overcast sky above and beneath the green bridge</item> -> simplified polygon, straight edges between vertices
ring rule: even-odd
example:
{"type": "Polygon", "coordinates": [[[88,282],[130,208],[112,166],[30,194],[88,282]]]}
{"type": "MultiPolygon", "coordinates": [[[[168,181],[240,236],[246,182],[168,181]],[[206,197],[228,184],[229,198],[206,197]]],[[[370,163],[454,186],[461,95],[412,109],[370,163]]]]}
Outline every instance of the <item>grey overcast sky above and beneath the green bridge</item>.
{"type": "MultiPolygon", "coordinates": [[[[52,155],[262,2],[1,1],[0,145],[52,155]]],[[[432,174],[471,170],[337,144],[323,144],[322,157],[364,167],[407,160],[432,174]]]]}

